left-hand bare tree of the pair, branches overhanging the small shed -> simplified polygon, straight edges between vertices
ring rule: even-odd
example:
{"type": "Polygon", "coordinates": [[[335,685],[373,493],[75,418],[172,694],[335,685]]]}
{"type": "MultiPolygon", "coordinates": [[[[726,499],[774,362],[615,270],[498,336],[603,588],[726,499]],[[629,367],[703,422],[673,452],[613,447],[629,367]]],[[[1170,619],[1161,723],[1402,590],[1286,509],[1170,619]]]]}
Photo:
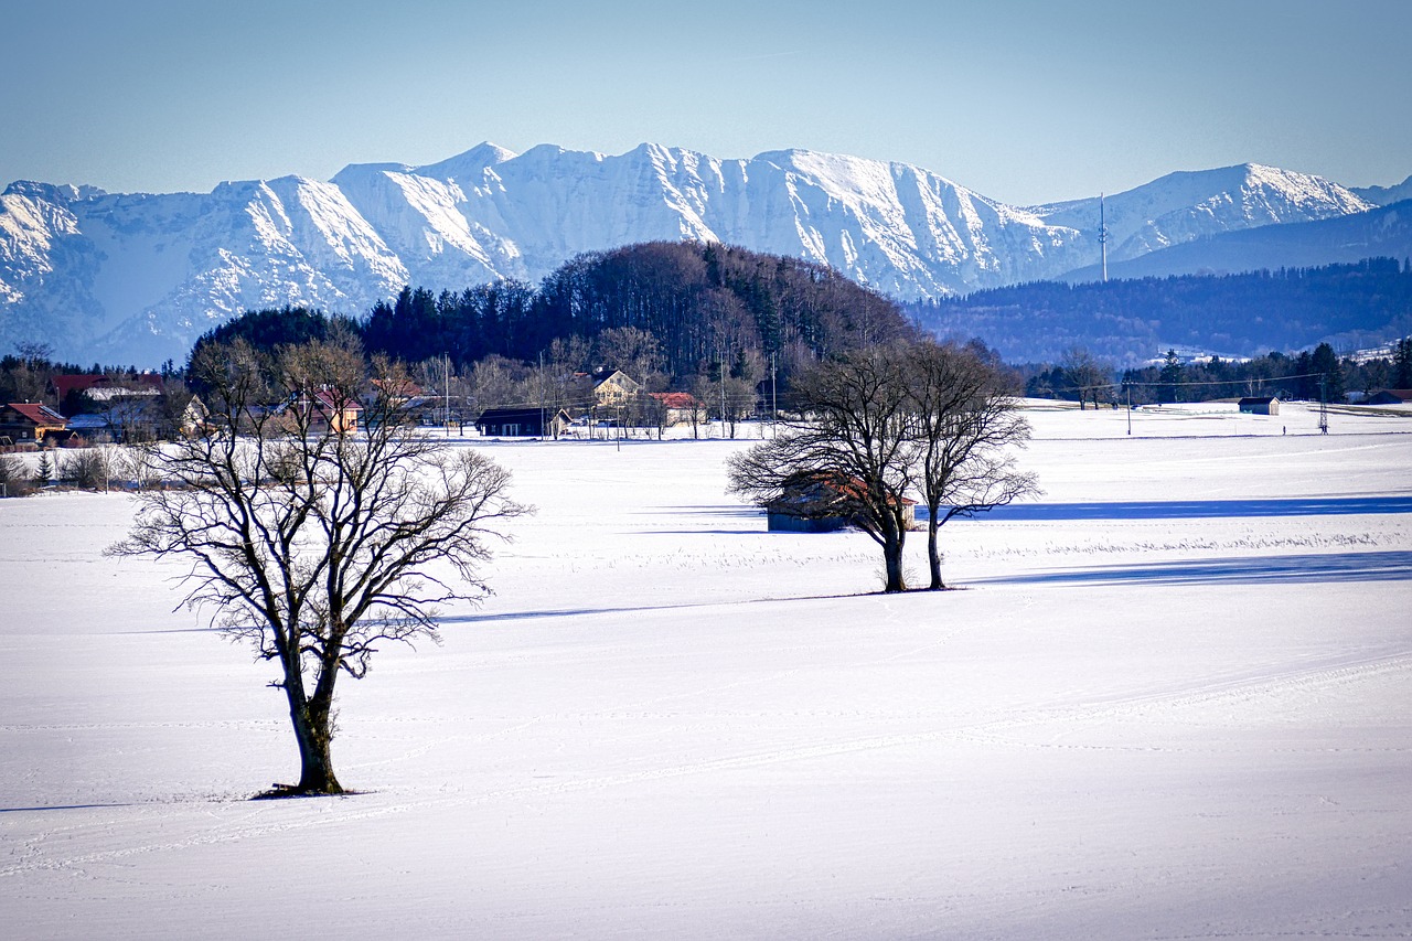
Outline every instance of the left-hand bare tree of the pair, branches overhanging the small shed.
{"type": "Polygon", "coordinates": [[[830,487],[833,499],[812,506],[847,516],[882,547],[888,592],[907,591],[905,493],[915,463],[907,362],[905,346],[888,345],[813,366],[792,386],[795,407],[809,418],[729,465],[730,489],[757,503],[812,485],[830,487]]]}

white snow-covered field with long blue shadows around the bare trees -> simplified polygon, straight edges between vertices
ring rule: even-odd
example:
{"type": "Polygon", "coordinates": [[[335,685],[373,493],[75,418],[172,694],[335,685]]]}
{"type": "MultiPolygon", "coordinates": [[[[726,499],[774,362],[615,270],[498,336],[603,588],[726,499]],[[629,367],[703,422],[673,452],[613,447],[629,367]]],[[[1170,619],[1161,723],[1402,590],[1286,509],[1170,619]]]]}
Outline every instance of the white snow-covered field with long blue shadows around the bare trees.
{"type": "Polygon", "coordinates": [[[459,442],[539,511],[345,684],[345,798],[246,800],[273,670],[127,497],[3,500],[0,935],[1412,937],[1412,418],[1230,408],[1036,408],[901,596],[750,441],[459,442]]]}

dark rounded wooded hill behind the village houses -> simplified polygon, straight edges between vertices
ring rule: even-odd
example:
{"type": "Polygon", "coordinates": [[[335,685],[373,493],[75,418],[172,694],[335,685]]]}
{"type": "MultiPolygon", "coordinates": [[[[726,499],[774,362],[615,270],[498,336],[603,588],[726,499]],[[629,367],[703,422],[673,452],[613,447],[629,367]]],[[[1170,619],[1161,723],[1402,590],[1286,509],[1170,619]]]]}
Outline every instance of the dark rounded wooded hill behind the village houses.
{"type": "MultiPolygon", "coordinates": [[[[247,312],[202,341],[239,335],[270,348],[306,339],[323,319],[302,308],[247,312]]],[[[592,349],[604,331],[634,328],[651,335],[654,372],[676,379],[719,360],[736,373],[747,363],[758,373],[771,356],[788,373],[914,329],[894,301],[825,266],[693,242],[585,253],[538,287],[514,280],[439,294],[408,287],[350,326],[369,353],[407,363],[446,356],[460,367],[487,356],[548,359],[555,341],[561,350],[575,339],[592,349]]]]}

